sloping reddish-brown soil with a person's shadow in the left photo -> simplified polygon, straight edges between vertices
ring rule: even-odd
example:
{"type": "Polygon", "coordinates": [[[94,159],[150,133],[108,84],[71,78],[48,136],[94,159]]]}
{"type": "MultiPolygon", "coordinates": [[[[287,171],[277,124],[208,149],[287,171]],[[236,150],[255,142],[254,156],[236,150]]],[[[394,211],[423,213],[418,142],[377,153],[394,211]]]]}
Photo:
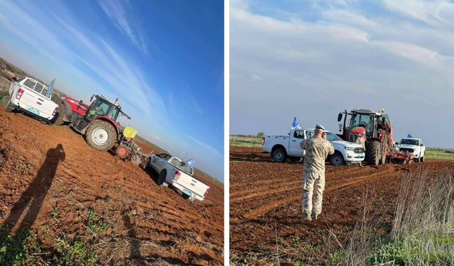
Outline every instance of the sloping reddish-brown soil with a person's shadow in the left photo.
{"type": "Polygon", "coordinates": [[[221,265],[223,187],[196,177],[211,191],[185,200],[69,127],[0,106],[0,221],[12,232],[31,225],[44,246],[90,243],[102,265],[221,265]]]}

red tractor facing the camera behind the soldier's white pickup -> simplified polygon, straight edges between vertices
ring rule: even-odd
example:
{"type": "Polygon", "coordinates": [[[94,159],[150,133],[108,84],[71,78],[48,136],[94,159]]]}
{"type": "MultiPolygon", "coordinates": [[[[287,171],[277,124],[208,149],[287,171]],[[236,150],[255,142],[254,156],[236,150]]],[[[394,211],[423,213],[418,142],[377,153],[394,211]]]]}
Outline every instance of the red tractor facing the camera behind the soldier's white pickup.
{"type": "Polygon", "coordinates": [[[345,110],[338,115],[339,135],[343,140],[355,142],[358,134],[365,133],[365,161],[369,165],[384,164],[389,153],[388,147],[392,142],[392,124],[387,114],[374,112],[366,109],[352,110],[350,113],[345,110]],[[347,120],[348,116],[351,116],[347,120]],[[348,121],[348,122],[347,122],[348,121]],[[348,123],[348,124],[347,124],[348,123]]]}

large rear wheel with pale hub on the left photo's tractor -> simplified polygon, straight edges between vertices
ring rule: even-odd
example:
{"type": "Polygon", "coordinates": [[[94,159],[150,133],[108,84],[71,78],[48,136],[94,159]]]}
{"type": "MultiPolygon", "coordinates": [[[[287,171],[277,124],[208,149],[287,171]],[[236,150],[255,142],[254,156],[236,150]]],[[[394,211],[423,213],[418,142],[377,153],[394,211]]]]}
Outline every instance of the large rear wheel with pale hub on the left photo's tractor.
{"type": "Polygon", "coordinates": [[[109,122],[96,120],[87,129],[85,133],[88,145],[96,150],[110,150],[114,147],[117,134],[114,126],[109,122]]]}

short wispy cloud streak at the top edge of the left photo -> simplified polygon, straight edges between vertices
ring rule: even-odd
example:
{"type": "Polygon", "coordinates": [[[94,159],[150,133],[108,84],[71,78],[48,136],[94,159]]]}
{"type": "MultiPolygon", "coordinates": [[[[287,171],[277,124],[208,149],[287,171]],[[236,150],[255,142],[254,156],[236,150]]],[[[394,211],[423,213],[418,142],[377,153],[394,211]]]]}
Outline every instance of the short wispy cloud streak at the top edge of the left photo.
{"type": "Polygon", "coordinates": [[[109,0],[99,0],[99,6],[106,13],[109,19],[114,23],[116,28],[118,28],[121,33],[128,36],[131,41],[136,45],[142,52],[147,52],[147,41],[146,36],[143,31],[140,31],[135,22],[131,23],[131,15],[128,16],[126,9],[121,3],[121,0],[118,1],[109,1],[109,0]]]}

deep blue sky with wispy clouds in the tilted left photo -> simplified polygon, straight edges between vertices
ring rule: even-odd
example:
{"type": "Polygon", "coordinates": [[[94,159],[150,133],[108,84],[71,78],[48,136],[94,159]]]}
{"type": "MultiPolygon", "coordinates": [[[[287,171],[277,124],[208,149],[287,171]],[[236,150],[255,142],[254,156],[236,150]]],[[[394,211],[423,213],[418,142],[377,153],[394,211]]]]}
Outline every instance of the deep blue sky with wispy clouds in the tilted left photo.
{"type": "Polygon", "coordinates": [[[223,181],[223,1],[0,0],[0,57],[223,181]]]}

